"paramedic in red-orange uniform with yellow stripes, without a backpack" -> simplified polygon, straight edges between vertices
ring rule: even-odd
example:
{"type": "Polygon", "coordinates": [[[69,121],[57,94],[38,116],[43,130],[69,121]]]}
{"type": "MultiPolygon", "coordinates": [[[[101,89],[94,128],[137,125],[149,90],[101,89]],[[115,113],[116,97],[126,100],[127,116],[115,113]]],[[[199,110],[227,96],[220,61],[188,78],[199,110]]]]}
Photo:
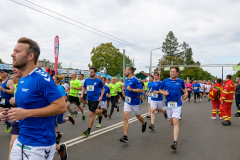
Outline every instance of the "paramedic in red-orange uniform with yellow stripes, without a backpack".
{"type": "Polygon", "coordinates": [[[232,76],[227,75],[226,82],[220,96],[220,110],[222,112],[223,119],[225,120],[225,122],[222,122],[223,126],[231,125],[231,108],[235,92],[235,84],[231,79],[232,76]]]}

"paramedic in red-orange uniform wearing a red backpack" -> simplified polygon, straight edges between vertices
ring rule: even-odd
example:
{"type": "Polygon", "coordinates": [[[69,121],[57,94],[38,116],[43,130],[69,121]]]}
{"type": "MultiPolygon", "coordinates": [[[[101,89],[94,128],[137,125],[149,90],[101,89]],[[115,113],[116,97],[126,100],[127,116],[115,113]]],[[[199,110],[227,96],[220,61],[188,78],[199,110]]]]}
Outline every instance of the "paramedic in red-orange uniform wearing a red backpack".
{"type": "MultiPolygon", "coordinates": [[[[218,78],[217,79],[217,83],[214,84],[213,86],[215,86],[216,88],[218,88],[220,90],[220,94],[223,90],[223,85],[222,85],[222,79],[221,78],[218,78]]],[[[220,97],[219,97],[220,98],[220,97]]],[[[221,111],[220,111],[220,99],[216,99],[216,100],[212,100],[212,117],[211,119],[216,119],[216,114],[217,114],[217,108],[218,108],[218,116],[219,116],[219,119],[222,119],[222,114],[221,114],[221,111]]]]}

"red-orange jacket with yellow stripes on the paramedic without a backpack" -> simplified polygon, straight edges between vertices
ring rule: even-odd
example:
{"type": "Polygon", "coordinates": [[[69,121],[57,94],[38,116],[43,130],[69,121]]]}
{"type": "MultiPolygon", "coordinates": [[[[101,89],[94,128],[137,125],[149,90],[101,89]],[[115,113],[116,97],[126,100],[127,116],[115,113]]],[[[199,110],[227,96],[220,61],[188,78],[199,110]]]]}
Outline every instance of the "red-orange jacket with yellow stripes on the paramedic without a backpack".
{"type": "Polygon", "coordinates": [[[223,87],[223,91],[220,96],[220,101],[233,103],[234,93],[235,93],[235,84],[233,83],[232,80],[227,80],[223,87]]]}

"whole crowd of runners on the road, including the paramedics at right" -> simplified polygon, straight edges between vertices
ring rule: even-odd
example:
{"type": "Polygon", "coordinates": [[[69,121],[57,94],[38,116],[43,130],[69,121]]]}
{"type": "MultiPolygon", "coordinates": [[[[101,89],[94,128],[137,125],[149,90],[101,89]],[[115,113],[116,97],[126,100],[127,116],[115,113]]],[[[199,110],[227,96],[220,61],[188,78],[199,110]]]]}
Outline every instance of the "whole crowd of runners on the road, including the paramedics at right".
{"type": "Polygon", "coordinates": [[[219,118],[224,119],[222,124],[227,126],[231,125],[231,105],[235,94],[238,107],[235,117],[240,117],[240,79],[237,78],[236,83],[233,83],[231,75],[227,75],[224,83],[221,79],[216,82],[183,81],[178,78],[179,68],[172,66],[170,78],[160,81],[159,73],[154,72],[149,81],[142,81],[134,76],[135,68],[127,67],[127,79],[123,82],[119,78],[107,79],[96,75],[97,69],[92,67],[89,78],[84,79],[83,74],[72,73],[68,83],[63,76],[51,77],[37,68],[39,55],[40,48],[35,41],[20,38],[11,55],[13,74],[9,77],[9,70],[0,71],[0,117],[2,123],[6,124],[5,133],[11,134],[11,160],[50,160],[53,159],[55,150],[61,160],[68,159],[66,144],[60,144],[64,131],[60,131],[58,125],[66,122],[74,125],[75,116],[80,113],[83,121],[89,121],[88,128],[81,132],[88,137],[94,120],[98,121],[96,127],[101,127],[103,116],[111,119],[114,110],[119,112],[121,102],[124,103],[124,118],[120,142],[128,143],[128,120],[132,110],[141,123],[142,132],[147,127],[154,130],[155,114],[162,113],[173,125],[173,150],[177,150],[183,101],[191,102],[194,97],[193,101],[197,103],[208,98],[212,101],[211,119],[216,119],[218,113],[219,118]],[[141,115],[144,100],[148,101],[149,114],[146,118],[151,119],[149,125],[141,115]],[[72,108],[71,104],[75,107],[72,108]],[[84,112],[85,106],[88,106],[89,116],[84,112]],[[70,116],[64,118],[67,110],[70,116]]]}

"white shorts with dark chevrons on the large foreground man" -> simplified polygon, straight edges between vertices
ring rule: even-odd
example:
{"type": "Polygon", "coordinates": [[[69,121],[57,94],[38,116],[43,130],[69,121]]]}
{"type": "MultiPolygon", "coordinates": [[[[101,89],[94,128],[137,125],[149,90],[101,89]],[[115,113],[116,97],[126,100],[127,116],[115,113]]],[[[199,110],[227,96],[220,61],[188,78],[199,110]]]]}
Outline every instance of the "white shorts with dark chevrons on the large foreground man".
{"type": "Polygon", "coordinates": [[[10,160],[52,160],[55,150],[56,144],[46,147],[32,147],[24,145],[22,149],[22,144],[16,139],[13,143],[10,160]]]}

